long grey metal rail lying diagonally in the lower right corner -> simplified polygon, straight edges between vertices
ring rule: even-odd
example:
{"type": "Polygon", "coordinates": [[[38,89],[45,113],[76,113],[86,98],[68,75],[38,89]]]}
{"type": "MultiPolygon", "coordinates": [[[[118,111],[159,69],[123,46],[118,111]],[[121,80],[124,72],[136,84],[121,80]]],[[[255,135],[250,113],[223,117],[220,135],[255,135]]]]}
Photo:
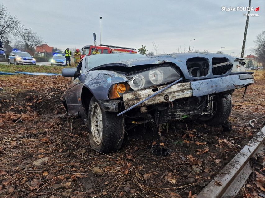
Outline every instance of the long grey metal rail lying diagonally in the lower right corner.
{"type": "Polygon", "coordinates": [[[225,166],[197,196],[197,198],[232,197],[238,194],[249,175],[256,168],[264,166],[265,126],[244,146],[244,148],[225,166]]]}

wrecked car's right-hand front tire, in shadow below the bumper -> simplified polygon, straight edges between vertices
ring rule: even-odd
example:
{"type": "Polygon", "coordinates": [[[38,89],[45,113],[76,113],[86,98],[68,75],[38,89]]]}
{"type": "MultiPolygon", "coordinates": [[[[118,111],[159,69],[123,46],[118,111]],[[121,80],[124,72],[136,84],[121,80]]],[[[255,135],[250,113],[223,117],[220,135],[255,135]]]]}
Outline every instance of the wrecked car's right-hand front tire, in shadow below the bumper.
{"type": "Polygon", "coordinates": [[[232,110],[231,97],[232,96],[230,94],[216,97],[213,115],[200,116],[199,120],[211,126],[225,123],[232,110]]]}

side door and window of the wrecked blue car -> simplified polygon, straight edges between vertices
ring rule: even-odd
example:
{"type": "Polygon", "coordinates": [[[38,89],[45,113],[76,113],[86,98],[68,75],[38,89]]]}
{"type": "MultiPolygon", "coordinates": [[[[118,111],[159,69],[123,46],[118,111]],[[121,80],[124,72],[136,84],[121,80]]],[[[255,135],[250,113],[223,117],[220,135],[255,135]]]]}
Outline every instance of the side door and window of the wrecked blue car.
{"type": "Polygon", "coordinates": [[[79,77],[72,78],[68,90],[66,91],[66,103],[68,107],[69,114],[78,115],[80,108],[82,106],[81,102],[81,92],[83,84],[85,82],[85,60],[82,59],[78,64],[76,70],[81,73],[79,77]]]}

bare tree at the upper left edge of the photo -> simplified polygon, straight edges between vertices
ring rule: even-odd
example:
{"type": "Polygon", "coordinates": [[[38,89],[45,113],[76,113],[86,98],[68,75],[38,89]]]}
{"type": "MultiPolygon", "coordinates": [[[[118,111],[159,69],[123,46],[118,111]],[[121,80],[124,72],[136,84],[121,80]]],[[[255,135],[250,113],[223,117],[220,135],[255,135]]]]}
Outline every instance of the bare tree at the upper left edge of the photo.
{"type": "Polygon", "coordinates": [[[9,34],[15,35],[22,25],[16,16],[10,15],[7,8],[0,4],[0,40],[9,34]]]}

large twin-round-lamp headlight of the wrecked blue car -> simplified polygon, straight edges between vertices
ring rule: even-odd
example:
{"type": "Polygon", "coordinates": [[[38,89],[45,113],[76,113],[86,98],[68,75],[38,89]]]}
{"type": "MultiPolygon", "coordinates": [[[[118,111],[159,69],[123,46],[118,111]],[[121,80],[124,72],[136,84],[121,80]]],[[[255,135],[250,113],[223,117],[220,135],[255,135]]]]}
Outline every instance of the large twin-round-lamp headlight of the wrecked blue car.
{"type": "Polygon", "coordinates": [[[180,79],[180,74],[172,66],[160,66],[147,71],[128,75],[129,85],[135,91],[169,83],[180,79]]]}

